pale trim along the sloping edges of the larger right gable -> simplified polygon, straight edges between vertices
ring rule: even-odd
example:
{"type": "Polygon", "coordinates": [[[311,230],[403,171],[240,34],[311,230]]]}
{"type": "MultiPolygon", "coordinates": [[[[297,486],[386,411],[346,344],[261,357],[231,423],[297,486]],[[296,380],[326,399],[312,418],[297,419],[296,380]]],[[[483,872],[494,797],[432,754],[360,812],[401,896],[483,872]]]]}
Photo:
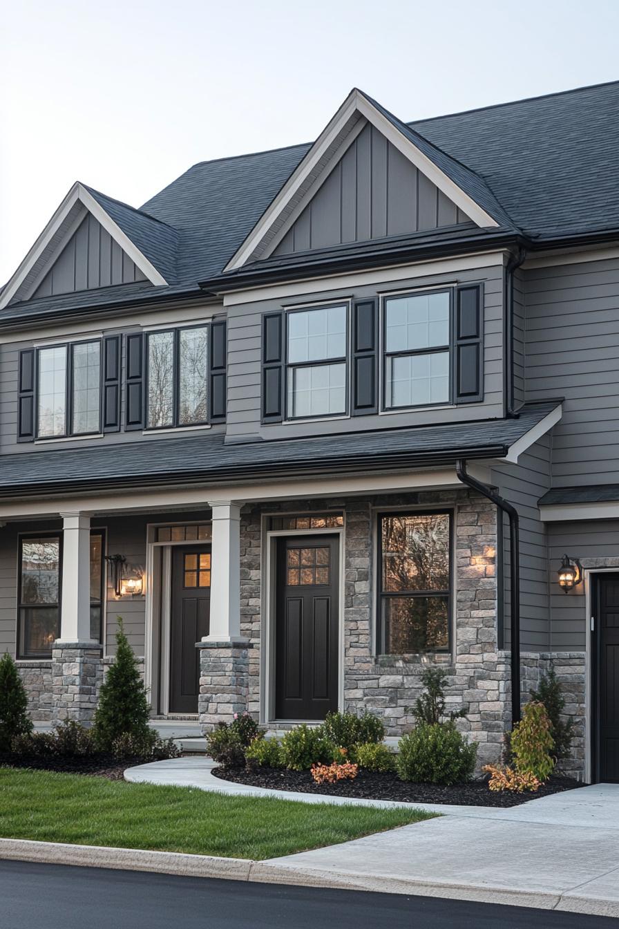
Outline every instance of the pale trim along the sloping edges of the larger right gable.
{"type": "Polygon", "coordinates": [[[290,202],[294,200],[295,195],[303,188],[303,184],[312,176],[316,166],[325,157],[329,148],[337,144],[338,136],[345,129],[346,124],[354,120],[355,117],[357,119],[365,117],[369,123],[376,126],[396,149],[401,151],[446,197],[456,203],[460,210],[466,213],[477,226],[482,229],[496,228],[498,226],[496,219],[486,213],[479,203],[475,203],[468,193],[461,190],[427,155],[424,155],[410,139],[406,138],[390,120],[383,116],[369,102],[368,98],[355,89],[344,100],[340,109],[307,152],[301,164],[297,165],[275,199],[264,211],[263,216],[251,230],[249,236],[241,244],[235,255],[232,256],[226,265],[226,271],[242,268],[260,248],[269,230],[277,226],[277,232],[279,231],[277,220],[281,220],[282,215],[285,216],[285,219],[288,219],[286,209],[290,202]]]}

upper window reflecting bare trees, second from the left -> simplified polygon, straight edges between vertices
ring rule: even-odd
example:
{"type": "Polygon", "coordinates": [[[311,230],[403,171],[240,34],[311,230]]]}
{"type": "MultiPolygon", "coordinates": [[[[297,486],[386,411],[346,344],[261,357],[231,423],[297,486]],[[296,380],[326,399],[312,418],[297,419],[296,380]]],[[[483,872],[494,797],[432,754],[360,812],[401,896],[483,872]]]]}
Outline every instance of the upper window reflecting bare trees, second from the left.
{"type": "Polygon", "coordinates": [[[148,334],[147,428],[208,420],[208,327],[148,334]]]}

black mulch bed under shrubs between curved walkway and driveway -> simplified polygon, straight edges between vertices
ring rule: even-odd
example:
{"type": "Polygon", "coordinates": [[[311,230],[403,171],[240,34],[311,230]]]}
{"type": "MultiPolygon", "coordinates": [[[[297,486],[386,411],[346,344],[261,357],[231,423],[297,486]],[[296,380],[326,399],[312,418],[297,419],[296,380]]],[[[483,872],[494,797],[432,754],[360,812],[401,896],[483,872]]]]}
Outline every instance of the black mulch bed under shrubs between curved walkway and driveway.
{"type": "Polygon", "coordinates": [[[584,786],[572,778],[551,778],[535,793],[499,793],[489,790],[484,780],[439,787],[435,784],[409,784],[393,774],[376,774],[371,771],[359,771],[355,780],[340,780],[335,784],[320,785],[315,784],[309,771],[280,771],[266,767],[257,771],[247,771],[243,768],[215,767],[213,774],[223,780],[233,780],[238,784],[251,784],[275,791],[327,793],[364,800],[395,800],[406,804],[467,806],[517,806],[526,803],[527,800],[547,797],[550,793],[571,791],[584,786]]]}

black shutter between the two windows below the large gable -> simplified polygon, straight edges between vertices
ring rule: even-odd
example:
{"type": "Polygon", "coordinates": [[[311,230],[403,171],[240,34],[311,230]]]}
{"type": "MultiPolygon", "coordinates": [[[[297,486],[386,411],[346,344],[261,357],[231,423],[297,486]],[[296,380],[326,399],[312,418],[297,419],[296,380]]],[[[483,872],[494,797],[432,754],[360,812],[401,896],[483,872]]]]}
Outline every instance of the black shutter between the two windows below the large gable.
{"type": "Polygon", "coordinates": [[[354,416],[379,412],[377,345],[378,301],[357,300],[353,305],[353,402],[354,416]]]}

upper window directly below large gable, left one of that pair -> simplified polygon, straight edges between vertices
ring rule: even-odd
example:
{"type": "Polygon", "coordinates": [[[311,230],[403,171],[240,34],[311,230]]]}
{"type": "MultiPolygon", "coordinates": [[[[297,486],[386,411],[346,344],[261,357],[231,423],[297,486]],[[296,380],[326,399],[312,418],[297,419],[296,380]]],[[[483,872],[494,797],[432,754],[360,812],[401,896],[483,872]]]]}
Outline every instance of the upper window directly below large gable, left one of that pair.
{"type": "Polygon", "coordinates": [[[290,310],[287,334],[289,419],[346,412],[348,307],[290,310]]]}

